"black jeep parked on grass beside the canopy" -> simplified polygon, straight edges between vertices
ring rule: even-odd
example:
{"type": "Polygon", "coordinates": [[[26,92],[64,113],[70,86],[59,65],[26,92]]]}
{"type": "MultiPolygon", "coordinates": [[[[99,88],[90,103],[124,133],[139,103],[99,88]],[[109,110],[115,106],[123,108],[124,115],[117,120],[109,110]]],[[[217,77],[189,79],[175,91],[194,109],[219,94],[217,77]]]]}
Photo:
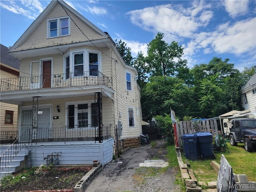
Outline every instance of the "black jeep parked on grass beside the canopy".
{"type": "Polygon", "coordinates": [[[246,151],[251,152],[256,147],[256,119],[234,118],[230,120],[230,144],[244,143],[246,151]]]}

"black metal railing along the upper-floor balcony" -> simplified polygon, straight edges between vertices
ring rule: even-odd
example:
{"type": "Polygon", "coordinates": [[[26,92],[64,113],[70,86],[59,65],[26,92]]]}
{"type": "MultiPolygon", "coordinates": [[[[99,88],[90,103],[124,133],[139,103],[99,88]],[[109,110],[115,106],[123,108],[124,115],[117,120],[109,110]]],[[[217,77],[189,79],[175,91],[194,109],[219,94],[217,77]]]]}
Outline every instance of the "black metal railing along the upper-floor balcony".
{"type": "Polygon", "coordinates": [[[15,91],[67,86],[106,85],[109,79],[99,71],[27,76],[0,80],[0,91],[15,91]]]}

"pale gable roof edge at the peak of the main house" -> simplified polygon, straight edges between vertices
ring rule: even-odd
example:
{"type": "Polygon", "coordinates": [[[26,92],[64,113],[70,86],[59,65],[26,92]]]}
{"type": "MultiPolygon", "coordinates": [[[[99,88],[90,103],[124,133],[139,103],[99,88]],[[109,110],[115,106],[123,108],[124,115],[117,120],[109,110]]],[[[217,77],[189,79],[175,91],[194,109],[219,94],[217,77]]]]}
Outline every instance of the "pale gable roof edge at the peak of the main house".
{"type": "MultiPolygon", "coordinates": [[[[32,22],[32,24],[28,27],[28,29],[22,34],[22,36],[16,41],[16,43],[12,46],[9,52],[14,52],[17,47],[19,47],[29,36],[30,34],[36,29],[36,27],[44,20],[44,18],[51,12],[51,10],[57,5],[60,4],[63,8],[66,10],[72,12],[75,16],[80,18],[85,24],[90,26],[92,29],[94,29],[96,32],[98,32],[103,38],[110,38],[106,33],[104,33],[102,30],[100,30],[97,26],[92,24],[89,20],[87,20],[82,14],[74,10],[72,7],[70,7],[66,2],[63,0],[52,0],[50,4],[44,9],[44,11],[32,22]]],[[[89,40],[90,41],[90,40],[89,40]]]]}

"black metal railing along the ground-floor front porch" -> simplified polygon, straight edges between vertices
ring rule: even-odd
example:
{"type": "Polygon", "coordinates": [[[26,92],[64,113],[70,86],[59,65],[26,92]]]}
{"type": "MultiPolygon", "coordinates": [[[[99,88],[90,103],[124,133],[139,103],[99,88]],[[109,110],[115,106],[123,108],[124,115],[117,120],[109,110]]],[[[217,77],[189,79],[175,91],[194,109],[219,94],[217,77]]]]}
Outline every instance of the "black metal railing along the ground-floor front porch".
{"type": "MultiPolygon", "coordinates": [[[[24,129],[24,128],[22,128],[24,129]]],[[[25,128],[26,129],[26,128],[25,128]]],[[[23,134],[20,138],[20,142],[72,142],[72,141],[100,141],[111,138],[111,124],[102,126],[102,134],[100,138],[98,127],[57,127],[46,128],[38,127],[32,129],[31,127],[26,129],[30,130],[29,135],[23,134]]]]}

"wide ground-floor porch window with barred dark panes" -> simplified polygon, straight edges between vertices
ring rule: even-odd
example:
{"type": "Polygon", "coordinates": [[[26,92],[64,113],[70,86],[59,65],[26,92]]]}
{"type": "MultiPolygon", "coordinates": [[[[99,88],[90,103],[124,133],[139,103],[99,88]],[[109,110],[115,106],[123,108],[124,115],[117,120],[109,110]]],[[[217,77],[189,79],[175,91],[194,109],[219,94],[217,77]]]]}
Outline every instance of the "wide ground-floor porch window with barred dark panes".
{"type": "Polygon", "coordinates": [[[97,103],[71,103],[67,105],[68,129],[98,127],[97,103]]]}

